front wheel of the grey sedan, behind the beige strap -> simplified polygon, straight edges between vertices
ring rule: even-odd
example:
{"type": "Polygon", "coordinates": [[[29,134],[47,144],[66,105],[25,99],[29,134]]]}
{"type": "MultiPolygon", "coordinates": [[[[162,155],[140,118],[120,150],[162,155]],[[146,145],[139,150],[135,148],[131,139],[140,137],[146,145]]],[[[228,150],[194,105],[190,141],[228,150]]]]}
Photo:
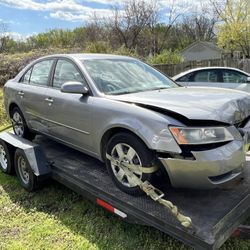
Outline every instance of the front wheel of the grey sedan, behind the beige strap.
{"type": "MultiPolygon", "coordinates": [[[[114,156],[115,158],[121,159],[118,154],[118,151],[120,151],[121,149],[125,154],[124,160],[133,162],[133,164],[139,164],[143,167],[152,167],[152,164],[155,160],[153,152],[149,150],[148,147],[136,136],[129,133],[118,133],[114,135],[107,144],[106,153],[114,156]],[[130,156],[128,156],[127,153],[129,152],[129,150],[131,150],[130,155],[133,156],[134,154],[134,157],[131,158],[130,156]]],[[[123,176],[123,171],[119,168],[119,166],[114,166],[107,158],[106,166],[112,180],[122,191],[134,196],[140,196],[144,194],[144,192],[138,186],[134,186],[129,183],[129,179],[126,177],[126,175],[123,176]]],[[[136,175],[142,181],[147,180],[149,182],[153,177],[153,174],[145,174],[140,171],[138,171],[136,175]]]]}

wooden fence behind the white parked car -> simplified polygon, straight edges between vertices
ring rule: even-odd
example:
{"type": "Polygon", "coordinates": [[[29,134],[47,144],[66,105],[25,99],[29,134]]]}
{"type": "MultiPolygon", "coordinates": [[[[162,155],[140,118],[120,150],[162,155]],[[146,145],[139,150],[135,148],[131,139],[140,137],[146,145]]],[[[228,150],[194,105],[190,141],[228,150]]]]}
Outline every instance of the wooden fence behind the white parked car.
{"type": "Polygon", "coordinates": [[[197,68],[197,67],[212,67],[223,66],[233,67],[244,70],[250,73],[250,59],[214,59],[214,60],[202,60],[202,61],[189,61],[182,62],[180,64],[157,64],[154,65],[157,69],[162,71],[168,76],[175,76],[183,71],[197,68]]]}

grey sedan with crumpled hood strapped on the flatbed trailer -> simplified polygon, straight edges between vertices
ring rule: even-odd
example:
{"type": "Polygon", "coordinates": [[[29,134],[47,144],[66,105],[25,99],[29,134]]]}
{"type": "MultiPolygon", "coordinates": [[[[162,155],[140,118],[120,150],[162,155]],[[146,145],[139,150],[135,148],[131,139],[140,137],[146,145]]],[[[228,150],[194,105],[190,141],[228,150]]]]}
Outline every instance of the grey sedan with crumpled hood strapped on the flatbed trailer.
{"type": "Polygon", "coordinates": [[[16,135],[46,135],[98,158],[130,194],[140,189],[122,164],[143,181],[153,174],[142,169],[158,166],[186,188],[228,183],[245,166],[248,94],[179,87],[130,57],[40,58],[5,84],[4,102],[16,135]]]}

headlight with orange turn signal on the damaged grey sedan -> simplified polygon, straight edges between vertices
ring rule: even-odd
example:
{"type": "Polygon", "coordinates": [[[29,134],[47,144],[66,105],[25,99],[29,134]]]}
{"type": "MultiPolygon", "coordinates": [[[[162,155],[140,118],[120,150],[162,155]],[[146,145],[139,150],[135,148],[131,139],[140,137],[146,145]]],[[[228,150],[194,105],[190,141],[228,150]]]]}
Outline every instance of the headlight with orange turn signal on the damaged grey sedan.
{"type": "Polygon", "coordinates": [[[234,137],[224,127],[184,128],[169,127],[179,144],[208,144],[232,141],[234,137]]]}

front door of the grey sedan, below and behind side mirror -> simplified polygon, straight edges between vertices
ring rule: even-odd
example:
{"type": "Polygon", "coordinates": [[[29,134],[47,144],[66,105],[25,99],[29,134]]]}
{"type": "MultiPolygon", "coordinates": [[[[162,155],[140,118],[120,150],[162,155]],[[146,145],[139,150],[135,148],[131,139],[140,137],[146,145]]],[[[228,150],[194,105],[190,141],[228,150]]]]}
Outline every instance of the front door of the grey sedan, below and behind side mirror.
{"type": "Polygon", "coordinates": [[[77,81],[87,86],[78,67],[70,60],[58,59],[51,87],[46,93],[49,134],[69,145],[92,152],[91,95],[63,93],[63,83],[77,81]]]}

